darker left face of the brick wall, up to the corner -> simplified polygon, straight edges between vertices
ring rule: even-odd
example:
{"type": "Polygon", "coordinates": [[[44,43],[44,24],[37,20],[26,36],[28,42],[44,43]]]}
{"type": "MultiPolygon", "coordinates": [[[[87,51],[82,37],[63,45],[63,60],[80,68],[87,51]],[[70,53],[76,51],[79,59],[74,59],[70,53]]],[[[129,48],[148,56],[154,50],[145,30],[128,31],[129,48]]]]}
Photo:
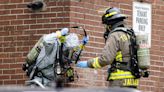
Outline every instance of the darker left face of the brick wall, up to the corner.
{"type": "Polygon", "coordinates": [[[0,1],[0,84],[23,84],[21,65],[37,40],[56,28],[69,26],[69,2],[45,0],[46,11],[34,13],[32,0],[0,1]]]}

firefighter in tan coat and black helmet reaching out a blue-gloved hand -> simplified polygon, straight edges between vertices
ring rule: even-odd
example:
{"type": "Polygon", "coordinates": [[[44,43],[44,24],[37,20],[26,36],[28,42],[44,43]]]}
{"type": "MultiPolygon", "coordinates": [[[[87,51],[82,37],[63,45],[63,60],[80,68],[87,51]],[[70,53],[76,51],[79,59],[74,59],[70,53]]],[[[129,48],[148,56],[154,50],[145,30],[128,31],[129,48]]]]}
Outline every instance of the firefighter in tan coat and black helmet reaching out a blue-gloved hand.
{"type": "Polygon", "coordinates": [[[127,17],[120,10],[112,7],[106,10],[102,16],[102,24],[105,25],[105,46],[99,57],[87,61],[79,61],[76,66],[81,68],[102,68],[111,66],[108,70],[110,87],[137,88],[139,78],[136,78],[130,69],[130,35],[120,31],[128,28],[125,24],[127,17]],[[117,31],[119,29],[119,31],[117,31]]]}

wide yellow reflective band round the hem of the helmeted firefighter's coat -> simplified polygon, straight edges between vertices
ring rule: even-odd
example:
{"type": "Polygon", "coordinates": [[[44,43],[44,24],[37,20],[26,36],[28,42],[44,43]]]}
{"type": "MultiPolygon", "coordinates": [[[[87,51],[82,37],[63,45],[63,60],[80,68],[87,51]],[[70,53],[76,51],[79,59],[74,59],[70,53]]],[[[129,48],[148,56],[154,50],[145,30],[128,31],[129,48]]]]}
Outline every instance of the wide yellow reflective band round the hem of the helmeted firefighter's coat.
{"type": "Polygon", "coordinates": [[[126,78],[135,78],[135,77],[129,71],[117,70],[116,72],[111,73],[109,80],[126,79],[126,78]]]}

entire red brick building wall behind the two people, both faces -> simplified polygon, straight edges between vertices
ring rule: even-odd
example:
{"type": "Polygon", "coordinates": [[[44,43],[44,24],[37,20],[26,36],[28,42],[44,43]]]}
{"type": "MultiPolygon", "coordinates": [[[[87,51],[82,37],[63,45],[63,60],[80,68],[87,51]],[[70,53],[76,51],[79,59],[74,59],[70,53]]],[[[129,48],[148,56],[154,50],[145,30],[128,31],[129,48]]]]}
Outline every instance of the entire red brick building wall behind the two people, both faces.
{"type": "MultiPolygon", "coordinates": [[[[0,84],[23,84],[26,80],[21,64],[42,34],[65,26],[83,26],[90,41],[82,60],[101,54],[104,29],[102,8],[119,7],[132,25],[134,0],[44,0],[46,11],[31,12],[26,5],[32,0],[0,0],[0,84]]],[[[152,48],[150,77],[142,78],[139,89],[145,92],[164,90],[164,1],[144,0],[152,4],[152,48]]],[[[76,68],[79,79],[72,87],[107,87],[107,67],[99,70],[76,68]]]]}

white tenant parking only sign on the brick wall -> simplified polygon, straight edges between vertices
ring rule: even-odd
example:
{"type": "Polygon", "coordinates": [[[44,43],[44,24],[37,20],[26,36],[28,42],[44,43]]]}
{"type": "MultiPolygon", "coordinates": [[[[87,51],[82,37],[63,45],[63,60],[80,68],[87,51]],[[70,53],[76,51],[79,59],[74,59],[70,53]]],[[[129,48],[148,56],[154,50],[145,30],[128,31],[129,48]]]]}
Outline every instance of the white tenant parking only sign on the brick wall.
{"type": "Polygon", "coordinates": [[[133,29],[137,35],[145,35],[147,41],[146,47],[151,47],[151,22],[152,22],[151,4],[133,2],[133,29]]]}

